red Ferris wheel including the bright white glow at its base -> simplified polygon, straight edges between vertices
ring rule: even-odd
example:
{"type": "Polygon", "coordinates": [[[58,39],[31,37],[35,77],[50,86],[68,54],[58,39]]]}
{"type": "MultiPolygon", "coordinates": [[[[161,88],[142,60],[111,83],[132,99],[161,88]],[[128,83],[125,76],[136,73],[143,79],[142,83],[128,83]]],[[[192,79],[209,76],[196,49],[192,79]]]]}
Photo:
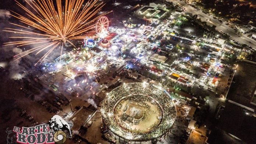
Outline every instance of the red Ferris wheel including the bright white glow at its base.
{"type": "Polygon", "coordinates": [[[100,17],[96,22],[96,32],[100,38],[105,38],[108,35],[109,19],[106,16],[100,17]]]}

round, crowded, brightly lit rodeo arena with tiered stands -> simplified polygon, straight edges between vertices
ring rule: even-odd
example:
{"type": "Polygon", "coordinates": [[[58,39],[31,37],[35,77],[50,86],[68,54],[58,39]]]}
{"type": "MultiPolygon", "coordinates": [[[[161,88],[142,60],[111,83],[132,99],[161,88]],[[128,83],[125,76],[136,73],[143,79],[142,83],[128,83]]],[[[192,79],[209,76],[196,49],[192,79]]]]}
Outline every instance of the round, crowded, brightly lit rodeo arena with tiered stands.
{"type": "Polygon", "coordinates": [[[104,99],[104,126],[120,143],[156,143],[170,132],[176,117],[174,102],[165,90],[148,83],[128,83],[104,99]]]}

